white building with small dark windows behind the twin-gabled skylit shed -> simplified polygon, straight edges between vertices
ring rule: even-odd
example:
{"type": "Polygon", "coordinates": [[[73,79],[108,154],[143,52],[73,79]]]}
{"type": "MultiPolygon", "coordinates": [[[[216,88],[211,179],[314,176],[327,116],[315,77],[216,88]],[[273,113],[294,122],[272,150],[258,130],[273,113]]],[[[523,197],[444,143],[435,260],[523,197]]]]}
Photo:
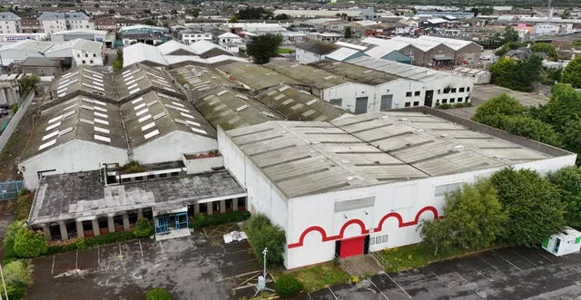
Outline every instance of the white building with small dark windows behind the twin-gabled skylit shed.
{"type": "Polygon", "coordinates": [[[54,44],[48,51],[44,52],[45,57],[72,57],[73,65],[103,65],[105,56],[105,44],[84,39],[54,44]]]}

